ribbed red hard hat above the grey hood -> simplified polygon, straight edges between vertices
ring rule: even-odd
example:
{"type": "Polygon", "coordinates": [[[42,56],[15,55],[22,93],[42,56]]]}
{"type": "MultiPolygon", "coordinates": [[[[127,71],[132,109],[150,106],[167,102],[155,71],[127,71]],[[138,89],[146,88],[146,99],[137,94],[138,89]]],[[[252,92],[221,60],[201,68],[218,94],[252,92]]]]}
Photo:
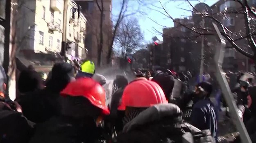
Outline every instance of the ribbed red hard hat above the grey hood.
{"type": "Polygon", "coordinates": [[[127,106],[145,108],[159,103],[168,103],[162,88],[154,81],[137,80],[126,86],[118,110],[125,110],[127,106]]]}

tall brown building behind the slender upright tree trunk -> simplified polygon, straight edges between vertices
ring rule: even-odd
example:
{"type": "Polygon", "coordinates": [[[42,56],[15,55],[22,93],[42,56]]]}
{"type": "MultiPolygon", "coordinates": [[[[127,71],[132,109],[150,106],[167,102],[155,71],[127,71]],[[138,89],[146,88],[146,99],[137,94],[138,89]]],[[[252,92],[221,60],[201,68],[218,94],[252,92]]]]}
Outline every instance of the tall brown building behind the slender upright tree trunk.
{"type": "MultiPolygon", "coordinates": [[[[88,59],[97,63],[98,46],[100,44],[100,10],[97,7],[96,0],[75,0],[82,7],[82,13],[85,15],[88,23],[86,24],[86,49],[88,50],[88,59]]],[[[98,0],[101,7],[103,2],[103,48],[101,53],[101,65],[106,65],[106,56],[112,38],[112,1],[98,0]]]]}

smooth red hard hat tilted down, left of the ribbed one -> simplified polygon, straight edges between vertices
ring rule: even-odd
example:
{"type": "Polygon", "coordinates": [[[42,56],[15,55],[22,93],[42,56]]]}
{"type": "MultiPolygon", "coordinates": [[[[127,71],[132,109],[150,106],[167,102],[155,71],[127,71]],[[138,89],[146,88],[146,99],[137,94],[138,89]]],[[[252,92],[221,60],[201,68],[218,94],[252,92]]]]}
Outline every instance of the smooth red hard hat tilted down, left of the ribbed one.
{"type": "Polygon", "coordinates": [[[72,97],[83,96],[94,106],[102,109],[103,114],[109,114],[109,109],[105,104],[105,90],[91,78],[79,78],[70,82],[60,94],[72,97]]]}

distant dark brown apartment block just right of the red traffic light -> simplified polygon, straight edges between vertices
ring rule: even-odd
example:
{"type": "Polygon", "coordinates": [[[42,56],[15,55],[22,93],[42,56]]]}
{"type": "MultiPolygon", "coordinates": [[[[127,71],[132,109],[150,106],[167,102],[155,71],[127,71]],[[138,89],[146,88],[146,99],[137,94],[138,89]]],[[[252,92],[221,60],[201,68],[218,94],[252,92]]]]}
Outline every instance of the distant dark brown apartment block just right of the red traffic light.
{"type": "Polygon", "coordinates": [[[190,28],[194,25],[192,18],[181,18],[174,20],[174,27],[163,29],[161,55],[165,56],[161,56],[163,57],[161,60],[165,61],[163,63],[166,67],[175,71],[199,70],[200,42],[198,42],[198,39],[193,39],[193,33],[179,23],[190,28]]]}

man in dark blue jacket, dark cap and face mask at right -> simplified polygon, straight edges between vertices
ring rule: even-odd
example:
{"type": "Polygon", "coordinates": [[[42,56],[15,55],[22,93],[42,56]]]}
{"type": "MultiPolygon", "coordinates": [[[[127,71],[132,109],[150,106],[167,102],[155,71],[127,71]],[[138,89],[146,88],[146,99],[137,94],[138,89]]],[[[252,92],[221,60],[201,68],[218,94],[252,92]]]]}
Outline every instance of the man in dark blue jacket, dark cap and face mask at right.
{"type": "Polygon", "coordinates": [[[209,99],[213,86],[208,82],[200,82],[195,89],[191,124],[199,130],[210,130],[213,139],[217,141],[217,118],[214,104],[209,99]]]}

